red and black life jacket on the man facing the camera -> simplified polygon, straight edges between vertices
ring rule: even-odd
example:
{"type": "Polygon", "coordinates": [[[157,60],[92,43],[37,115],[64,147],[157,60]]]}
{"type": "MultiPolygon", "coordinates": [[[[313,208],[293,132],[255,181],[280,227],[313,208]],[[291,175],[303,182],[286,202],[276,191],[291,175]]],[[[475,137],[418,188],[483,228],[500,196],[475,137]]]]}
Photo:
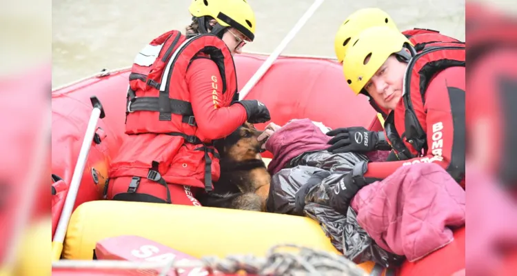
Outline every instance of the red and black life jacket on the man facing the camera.
{"type": "Polygon", "coordinates": [[[384,125],[389,144],[399,159],[412,159],[427,153],[427,135],[423,128],[426,126],[425,112],[416,111],[424,110],[429,81],[438,72],[453,66],[465,67],[465,43],[429,43],[409,61],[403,83],[403,104],[389,112],[384,125]],[[395,117],[395,114],[403,116],[395,117]]]}

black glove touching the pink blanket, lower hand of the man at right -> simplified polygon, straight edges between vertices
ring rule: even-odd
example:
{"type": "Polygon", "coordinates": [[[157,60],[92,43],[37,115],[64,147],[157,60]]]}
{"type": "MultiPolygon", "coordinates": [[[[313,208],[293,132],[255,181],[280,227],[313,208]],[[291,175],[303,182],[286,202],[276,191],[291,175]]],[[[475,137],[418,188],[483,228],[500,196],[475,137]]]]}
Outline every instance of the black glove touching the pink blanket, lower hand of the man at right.
{"type": "Polygon", "coordinates": [[[364,175],[367,170],[367,161],[361,161],[351,172],[343,175],[339,179],[334,188],[327,187],[327,195],[329,195],[329,206],[342,215],[347,215],[350,201],[354,199],[356,193],[367,184],[374,181],[365,179],[364,175]]]}

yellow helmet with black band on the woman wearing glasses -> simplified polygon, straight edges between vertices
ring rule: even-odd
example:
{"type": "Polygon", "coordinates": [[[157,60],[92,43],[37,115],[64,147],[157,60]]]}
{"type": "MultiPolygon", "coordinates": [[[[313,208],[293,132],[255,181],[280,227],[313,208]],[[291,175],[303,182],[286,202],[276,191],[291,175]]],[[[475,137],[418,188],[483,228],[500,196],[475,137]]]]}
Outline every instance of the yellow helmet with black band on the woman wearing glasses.
{"type": "Polygon", "coordinates": [[[192,0],[188,10],[194,17],[216,19],[223,28],[236,28],[250,41],[255,38],[255,14],[246,0],[192,0]]]}

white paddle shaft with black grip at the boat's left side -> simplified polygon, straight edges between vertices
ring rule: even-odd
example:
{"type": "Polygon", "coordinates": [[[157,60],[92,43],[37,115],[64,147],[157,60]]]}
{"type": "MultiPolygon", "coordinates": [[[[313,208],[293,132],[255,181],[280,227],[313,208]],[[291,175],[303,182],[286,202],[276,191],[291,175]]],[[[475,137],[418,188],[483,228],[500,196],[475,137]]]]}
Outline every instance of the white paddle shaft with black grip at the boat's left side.
{"type": "Polygon", "coordinates": [[[61,211],[56,232],[54,233],[54,239],[52,239],[53,260],[57,260],[61,257],[63,241],[65,240],[66,229],[68,228],[68,221],[70,221],[70,217],[72,216],[72,210],[74,209],[77,193],[79,192],[81,179],[83,179],[83,171],[86,166],[86,161],[88,160],[88,153],[92,146],[95,130],[97,129],[97,121],[99,121],[99,118],[103,118],[105,116],[99,99],[92,96],[90,97],[90,100],[92,101],[93,106],[92,115],[90,115],[90,120],[88,121],[88,127],[86,128],[83,144],[79,151],[79,157],[77,157],[77,164],[75,164],[74,175],[72,175],[72,181],[70,181],[70,186],[68,187],[65,204],[63,204],[63,210],[61,211]]]}

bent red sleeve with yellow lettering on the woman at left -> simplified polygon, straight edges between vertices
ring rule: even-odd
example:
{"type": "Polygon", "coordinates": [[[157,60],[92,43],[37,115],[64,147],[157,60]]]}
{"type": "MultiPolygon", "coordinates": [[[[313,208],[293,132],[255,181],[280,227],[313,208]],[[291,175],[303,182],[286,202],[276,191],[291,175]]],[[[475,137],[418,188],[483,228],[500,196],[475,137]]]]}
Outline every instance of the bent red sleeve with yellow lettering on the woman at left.
{"type": "Polygon", "coordinates": [[[220,106],[223,101],[223,81],[214,61],[194,59],[187,70],[186,79],[192,111],[203,137],[220,139],[244,124],[247,115],[243,106],[220,106]]]}

